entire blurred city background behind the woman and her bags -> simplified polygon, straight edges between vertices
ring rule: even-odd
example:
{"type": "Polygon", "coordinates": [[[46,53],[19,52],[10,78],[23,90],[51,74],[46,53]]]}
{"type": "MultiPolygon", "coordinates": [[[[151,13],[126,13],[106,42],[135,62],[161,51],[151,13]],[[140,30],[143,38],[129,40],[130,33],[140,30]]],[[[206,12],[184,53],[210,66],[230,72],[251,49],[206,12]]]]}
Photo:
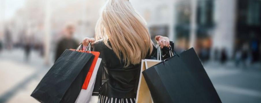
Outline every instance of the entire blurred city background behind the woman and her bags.
{"type": "MultiPolygon", "coordinates": [[[[261,0],[129,0],[150,35],[194,47],[223,103],[261,103],[261,0]]],[[[66,48],[94,37],[106,0],[0,0],[0,103],[31,92],[66,48]]]]}

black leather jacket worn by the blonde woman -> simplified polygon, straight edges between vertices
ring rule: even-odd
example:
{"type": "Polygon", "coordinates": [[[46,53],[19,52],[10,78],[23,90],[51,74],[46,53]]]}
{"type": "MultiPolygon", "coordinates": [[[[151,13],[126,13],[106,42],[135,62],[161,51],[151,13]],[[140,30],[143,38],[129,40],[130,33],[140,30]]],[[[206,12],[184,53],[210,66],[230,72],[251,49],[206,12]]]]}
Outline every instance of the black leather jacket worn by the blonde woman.
{"type": "MultiPolygon", "coordinates": [[[[173,47],[173,43],[171,43],[173,47]]],[[[140,76],[140,64],[129,65],[124,68],[123,59],[119,59],[114,51],[108,48],[103,41],[94,44],[93,51],[99,51],[102,58],[97,79],[95,82],[95,92],[110,98],[136,98],[138,80],[140,76]],[[101,85],[102,80],[106,81],[101,85]]],[[[168,48],[163,49],[163,55],[168,55],[168,48]]],[[[154,47],[151,56],[146,59],[151,59],[157,56],[157,49],[154,47]]],[[[168,58],[169,56],[166,56],[168,58]]]]}

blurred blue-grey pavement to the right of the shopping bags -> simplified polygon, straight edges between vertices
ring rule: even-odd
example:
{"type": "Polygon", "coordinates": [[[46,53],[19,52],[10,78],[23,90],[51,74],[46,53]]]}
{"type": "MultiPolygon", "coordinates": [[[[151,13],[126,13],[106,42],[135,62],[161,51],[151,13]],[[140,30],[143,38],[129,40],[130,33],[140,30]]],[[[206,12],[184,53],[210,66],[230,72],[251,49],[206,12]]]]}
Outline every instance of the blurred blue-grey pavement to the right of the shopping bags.
{"type": "Polygon", "coordinates": [[[223,103],[261,103],[261,67],[237,68],[205,64],[223,103]]]}

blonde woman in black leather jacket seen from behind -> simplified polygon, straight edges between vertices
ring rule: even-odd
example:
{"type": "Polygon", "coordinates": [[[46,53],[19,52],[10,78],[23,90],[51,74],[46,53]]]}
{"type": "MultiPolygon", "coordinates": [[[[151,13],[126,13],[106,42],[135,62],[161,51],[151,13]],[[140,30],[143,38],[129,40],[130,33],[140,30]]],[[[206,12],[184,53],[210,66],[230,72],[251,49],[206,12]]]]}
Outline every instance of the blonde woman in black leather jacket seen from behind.
{"type": "MultiPolygon", "coordinates": [[[[100,88],[100,103],[135,103],[140,63],[156,48],[144,19],[128,0],[107,0],[97,21],[95,39],[86,38],[100,52],[108,81],[100,88]]],[[[158,44],[169,47],[167,37],[156,36],[158,44]]]]}

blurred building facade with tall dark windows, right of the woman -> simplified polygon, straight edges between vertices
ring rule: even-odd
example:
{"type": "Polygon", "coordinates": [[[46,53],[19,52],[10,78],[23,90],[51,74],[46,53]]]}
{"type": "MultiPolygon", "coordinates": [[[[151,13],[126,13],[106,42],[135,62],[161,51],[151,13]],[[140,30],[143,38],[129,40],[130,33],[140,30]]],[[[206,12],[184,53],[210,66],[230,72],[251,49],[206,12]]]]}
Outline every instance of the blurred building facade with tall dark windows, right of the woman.
{"type": "Polygon", "coordinates": [[[260,0],[193,1],[139,0],[132,4],[147,20],[152,36],[168,36],[182,49],[188,49],[189,42],[195,41],[193,47],[202,60],[220,59],[222,52],[233,59],[235,52],[244,48],[252,61],[260,60],[260,0]],[[191,40],[193,12],[196,38],[192,39],[195,40],[191,40]]]}

